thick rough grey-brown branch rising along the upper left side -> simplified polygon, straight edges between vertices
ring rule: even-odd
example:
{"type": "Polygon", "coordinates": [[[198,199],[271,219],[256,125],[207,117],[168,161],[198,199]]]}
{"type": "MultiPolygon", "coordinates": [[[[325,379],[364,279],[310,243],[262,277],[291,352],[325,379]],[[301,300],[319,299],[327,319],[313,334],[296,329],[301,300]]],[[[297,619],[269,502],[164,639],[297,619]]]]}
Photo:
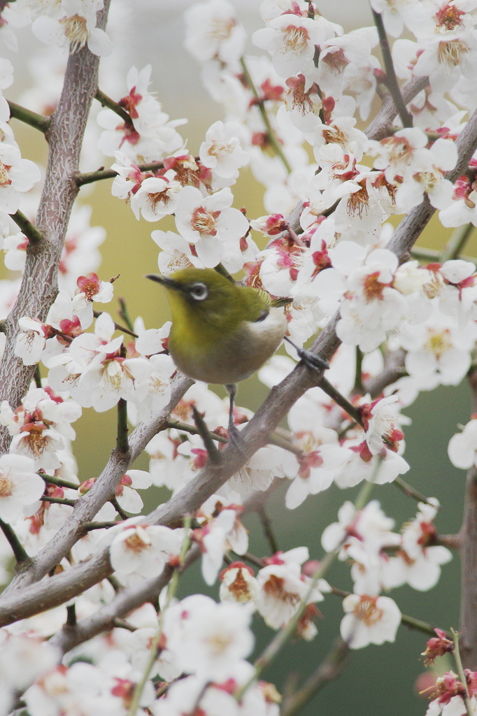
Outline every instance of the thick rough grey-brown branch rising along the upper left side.
{"type": "MultiPolygon", "coordinates": [[[[107,7],[98,13],[104,28],[107,7]]],[[[15,356],[14,346],[21,316],[44,319],[57,294],[57,272],[67,231],[69,213],[78,188],[72,181],[80,158],[82,137],[92,98],[97,89],[99,57],[87,47],[70,55],[64,86],[57,109],[50,118],[46,137],[49,142],[47,173],[36,227],[44,237],[29,244],[26,266],[16,304],[5,322],[6,347],[0,365],[0,400],[16,408],[28,390],[34,366],[24,366],[15,356]]],[[[0,431],[0,453],[9,448],[10,435],[0,431]]]]}

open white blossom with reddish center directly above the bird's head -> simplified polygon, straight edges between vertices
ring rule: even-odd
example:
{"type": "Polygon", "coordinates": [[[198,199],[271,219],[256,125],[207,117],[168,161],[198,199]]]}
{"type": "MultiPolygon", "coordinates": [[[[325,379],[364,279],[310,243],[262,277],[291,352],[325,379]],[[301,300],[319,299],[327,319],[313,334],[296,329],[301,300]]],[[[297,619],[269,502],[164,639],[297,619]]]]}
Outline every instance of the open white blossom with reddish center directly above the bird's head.
{"type": "Polygon", "coordinates": [[[206,198],[193,186],[180,192],[175,226],[193,244],[206,268],[222,262],[233,272],[243,266],[240,240],[248,233],[249,222],[241,211],[231,207],[232,202],[228,188],[206,198]]]}

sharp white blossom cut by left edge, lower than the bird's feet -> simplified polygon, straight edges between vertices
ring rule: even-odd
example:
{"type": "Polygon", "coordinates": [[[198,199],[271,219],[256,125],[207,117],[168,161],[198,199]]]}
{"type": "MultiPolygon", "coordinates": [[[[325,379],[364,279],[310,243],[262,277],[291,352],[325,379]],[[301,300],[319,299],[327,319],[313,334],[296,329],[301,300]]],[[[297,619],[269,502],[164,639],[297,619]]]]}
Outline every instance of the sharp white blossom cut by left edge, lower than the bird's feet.
{"type": "Polygon", "coordinates": [[[24,506],[32,505],[44,493],[44,481],[35,472],[31,458],[25,455],[0,457],[0,518],[15,522],[24,506]]]}

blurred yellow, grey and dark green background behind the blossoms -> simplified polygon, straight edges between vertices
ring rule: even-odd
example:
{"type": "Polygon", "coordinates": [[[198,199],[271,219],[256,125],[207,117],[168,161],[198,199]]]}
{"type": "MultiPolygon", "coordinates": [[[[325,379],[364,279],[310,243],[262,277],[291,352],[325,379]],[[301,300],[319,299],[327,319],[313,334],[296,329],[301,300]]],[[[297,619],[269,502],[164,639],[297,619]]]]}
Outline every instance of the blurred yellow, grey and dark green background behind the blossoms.
{"type": "MultiPolygon", "coordinates": [[[[146,62],[153,64],[153,89],[158,90],[158,99],[171,118],[188,115],[188,125],[180,130],[183,136],[188,138],[190,150],[197,153],[207,127],[215,120],[221,119],[222,114],[221,108],[214,105],[205,90],[201,89],[197,63],[182,49],[180,11],[191,4],[188,1],[156,4],[145,2],[145,11],[138,13],[132,32],[133,39],[125,49],[124,62],[125,71],[130,64],[136,64],[138,67],[143,67],[146,62]],[[156,18],[158,22],[154,24],[156,18]],[[142,42],[145,32],[155,33],[154,52],[150,49],[151,44],[142,42]],[[160,48],[162,54],[159,54],[157,48],[160,48]],[[163,57],[167,57],[167,62],[163,62],[163,57]]],[[[241,19],[244,19],[244,14],[246,25],[251,29],[261,25],[258,5],[255,1],[236,2],[241,19]]],[[[359,8],[357,5],[349,2],[337,4],[332,8],[331,19],[344,24],[347,30],[353,29],[362,21],[369,23],[367,4],[360,4],[363,7],[359,8]],[[355,25],[350,25],[351,21],[355,22],[355,25]]],[[[319,4],[319,7],[329,16],[324,3],[319,4]]],[[[12,61],[15,62],[13,57],[12,61]]],[[[27,86],[26,76],[20,80],[19,86],[22,82],[27,86]]],[[[124,87],[115,98],[122,94],[125,94],[124,87]]],[[[14,93],[9,97],[15,98],[14,93]]],[[[34,130],[20,127],[18,122],[14,122],[13,126],[23,155],[44,161],[44,143],[34,135],[34,130]]],[[[249,218],[261,216],[264,213],[263,191],[249,170],[244,170],[238,184],[233,188],[234,205],[237,208],[246,206],[249,218]]],[[[82,200],[80,193],[79,201],[82,200]]],[[[94,194],[87,196],[85,200],[92,203],[92,226],[100,224],[107,230],[107,240],[102,246],[103,262],[98,271],[100,278],[108,280],[120,274],[120,279],[115,283],[115,302],[107,308],[115,318],[117,297],[123,296],[133,318],[143,316],[147,328],[160,326],[169,318],[165,296],[158,286],[146,281],[144,275],[157,268],[157,247],[150,239],[150,232],[155,228],[163,231],[174,230],[173,219],[166,218],[158,224],[136,221],[129,206],[112,198],[110,181],[97,185],[94,194]]],[[[434,218],[420,238],[419,246],[442,248],[448,236],[449,232],[440,227],[434,218]]],[[[468,244],[466,253],[477,255],[476,238],[468,244]]],[[[219,395],[225,395],[221,388],[218,388],[217,392],[219,395]]],[[[254,377],[241,384],[239,402],[255,410],[266,394],[266,388],[254,377]]],[[[432,393],[424,392],[415,405],[404,412],[413,420],[413,425],[405,431],[405,457],[411,465],[410,473],[405,476],[406,480],[424,495],[435,496],[440,500],[443,505],[437,520],[440,533],[456,533],[461,524],[465,475],[463,471],[450,465],[447,445],[456,432],[458,423],[468,421],[471,412],[468,387],[464,383],[458,388],[440,388],[432,393]]],[[[84,410],[83,417],[75,428],[78,436],[75,455],[79,475],[81,480],[86,480],[100,473],[115,445],[115,413],[112,411],[97,414],[93,410],[84,410]]],[[[148,460],[145,457],[140,458],[135,467],[147,469],[148,460]]],[[[277,490],[270,500],[269,515],[273,519],[281,550],[307,545],[310,556],[320,558],[320,538],[324,527],[334,521],[342,502],[353,500],[355,495],[356,490],[343,492],[332,488],[322,495],[309,498],[297,510],[288,511],[284,508],[284,489],[277,490]]],[[[165,491],[155,490],[153,495],[149,495],[145,510],[149,511],[159,500],[166,498],[165,491]]],[[[376,487],[372,498],[379,499],[385,511],[395,518],[397,529],[403,521],[415,515],[416,505],[413,500],[406,498],[394,485],[376,487]]],[[[247,516],[245,523],[250,530],[251,551],[259,556],[266,555],[268,546],[261,535],[256,516],[247,516]]],[[[397,601],[405,614],[444,629],[457,628],[459,579],[459,563],[455,557],[443,567],[443,577],[434,589],[418,593],[403,587],[393,591],[390,596],[397,601]]],[[[329,581],[341,589],[350,589],[349,568],[337,563],[329,574],[329,581]]],[[[197,565],[182,579],[180,591],[183,595],[204,591],[197,565]]],[[[218,599],[218,586],[205,591],[218,599]]],[[[342,617],[340,602],[336,596],[327,596],[327,599],[319,604],[323,618],[319,620],[318,637],[310,643],[289,644],[264,674],[264,678],[274,682],[279,691],[284,690],[291,673],[302,680],[325,657],[339,634],[339,620],[342,617]]],[[[264,627],[260,619],[255,620],[255,626],[256,654],[259,654],[273,636],[273,632],[264,627]]],[[[316,713],[327,716],[342,716],[347,713],[367,716],[424,714],[426,702],[415,695],[413,684],[424,670],[420,653],[425,649],[426,639],[424,634],[400,627],[395,644],[368,647],[353,652],[342,676],[324,688],[301,713],[304,716],[316,713]]],[[[438,664],[438,667],[444,669],[444,662],[438,664]]],[[[446,663],[445,668],[448,667],[450,664],[446,663]]]]}

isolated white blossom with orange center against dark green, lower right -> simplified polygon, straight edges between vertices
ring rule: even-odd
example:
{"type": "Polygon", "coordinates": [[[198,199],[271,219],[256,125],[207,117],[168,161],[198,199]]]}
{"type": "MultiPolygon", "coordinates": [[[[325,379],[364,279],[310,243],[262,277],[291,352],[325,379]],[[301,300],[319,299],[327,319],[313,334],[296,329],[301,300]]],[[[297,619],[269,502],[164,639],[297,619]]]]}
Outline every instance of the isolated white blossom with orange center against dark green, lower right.
{"type": "Polygon", "coordinates": [[[349,594],[343,599],[343,609],[346,614],[339,632],[350,649],[395,641],[401,612],[390,597],[349,594]]]}

